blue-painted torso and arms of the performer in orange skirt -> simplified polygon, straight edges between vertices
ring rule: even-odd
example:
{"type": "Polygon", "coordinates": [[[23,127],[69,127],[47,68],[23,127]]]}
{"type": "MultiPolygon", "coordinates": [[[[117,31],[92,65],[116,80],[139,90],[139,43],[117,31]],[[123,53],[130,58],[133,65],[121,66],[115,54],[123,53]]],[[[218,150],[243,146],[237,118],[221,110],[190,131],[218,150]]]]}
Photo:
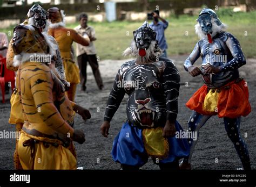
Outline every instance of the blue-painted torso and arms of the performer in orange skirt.
{"type": "Polygon", "coordinates": [[[193,52],[186,59],[184,67],[187,70],[201,56],[203,62],[201,71],[207,87],[216,89],[223,87],[239,77],[238,68],[245,64],[245,57],[237,39],[230,33],[224,32],[213,37],[210,44],[207,39],[200,40],[193,52]],[[204,66],[221,67],[218,74],[204,74],[204,66]]]}

